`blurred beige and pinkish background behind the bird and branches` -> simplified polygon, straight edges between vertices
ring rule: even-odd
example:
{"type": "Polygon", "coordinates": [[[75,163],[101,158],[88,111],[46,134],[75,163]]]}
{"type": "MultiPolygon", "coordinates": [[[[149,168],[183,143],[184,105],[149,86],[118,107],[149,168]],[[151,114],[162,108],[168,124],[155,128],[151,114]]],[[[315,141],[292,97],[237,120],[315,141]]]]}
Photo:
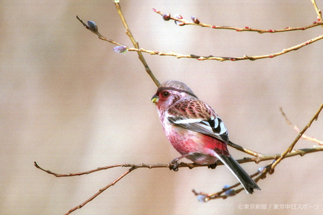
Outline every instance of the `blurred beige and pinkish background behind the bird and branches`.
{"type": "MultiPolygon", "coordinates": [[[[317,1],[323,8],[323,1],[317,1]]],[[[189,19],[261,29],[316,21],[308,1],[121,1],[141,47],[184,54],[274,53],[322,34],[322,28],[275,34],[179,27],[152,8],[189,19]]],[[[0,213],[63,214],[126,168],[56,178],[117,163],[166,163],[179,156],[166,139],[150,98],[156,86],[137,53],[115,53],[76,19],[92,20],[107,38],[131,45],[113,1],[1,1],[0,213]]],[[[323,41],[256,61],[197,61],[144,54],[160,82],[185,82],[225,121],[232,141],[255,151],[283,152],[323,101],[323,41]]],[[[307,135],[323,139],[323,115],[307,135]]],[[[295,148],[313,142],[300,140],[295,148]]],[[[246,156],[230,148],[236,159],[246,156]]],[[[251,174],[259,167],[243,164],[251,174]]],[[[223,166],[138,169],[74,214],[322,214],[322,154],[284,160],[261,191],[200,203],[191,189],[216,192],[236,179],[223,166]],[[239,209],[261,204],[267,209],[239,209]],[[274,210],[274,205],[308,205],[274,210]],[[318,208],[312,208],[319,205],[318,208]],[[270,208],[271,207],[271,208],[270,208]]]]}

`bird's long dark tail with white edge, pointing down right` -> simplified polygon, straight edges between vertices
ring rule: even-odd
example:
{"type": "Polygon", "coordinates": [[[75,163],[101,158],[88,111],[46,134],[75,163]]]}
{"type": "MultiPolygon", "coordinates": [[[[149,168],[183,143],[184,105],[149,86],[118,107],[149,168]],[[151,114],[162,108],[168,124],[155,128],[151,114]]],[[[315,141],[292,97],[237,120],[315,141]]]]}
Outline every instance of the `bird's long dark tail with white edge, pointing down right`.
{"type": "Polygon", "coordinates": [[[240,164],[238,164],[238,162],[231,155],[219,155],[218,158],[236,176],[247,193],[253,193],[253,189],[260,190],[256,182],[248,175],[248,173],[244,169],[242,169],[240,164]]]}

